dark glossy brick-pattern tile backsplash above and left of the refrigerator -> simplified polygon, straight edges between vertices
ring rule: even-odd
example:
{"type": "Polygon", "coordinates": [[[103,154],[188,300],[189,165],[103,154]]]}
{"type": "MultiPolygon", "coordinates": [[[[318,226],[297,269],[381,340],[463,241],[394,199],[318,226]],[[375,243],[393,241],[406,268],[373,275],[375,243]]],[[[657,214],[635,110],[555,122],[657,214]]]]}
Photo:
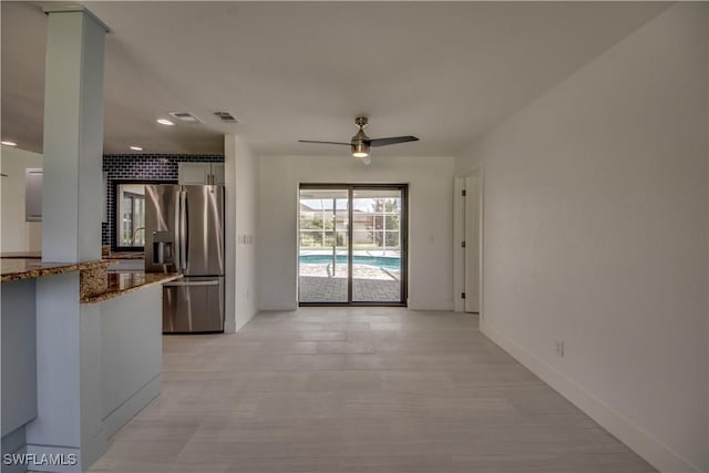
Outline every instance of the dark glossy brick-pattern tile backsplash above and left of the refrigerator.
{"type": "Polygon", "coordinates": [[[115,225],[114,184],[116,181],[145,179],[177,183],[177,163],[223,163],[220,154],[105,154],[103,171],[107,173],[106,219],[101,225],[101,244],[111,245],[111,234],[115,225]]]}

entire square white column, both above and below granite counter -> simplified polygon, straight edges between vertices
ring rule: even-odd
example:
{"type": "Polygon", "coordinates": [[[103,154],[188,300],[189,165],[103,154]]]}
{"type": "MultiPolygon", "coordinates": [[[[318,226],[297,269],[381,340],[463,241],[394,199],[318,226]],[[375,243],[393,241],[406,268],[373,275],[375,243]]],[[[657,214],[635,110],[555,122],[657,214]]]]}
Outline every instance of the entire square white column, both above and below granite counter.
{"type": "MultiPolygon", "coordinates": [[[[103,53],[107,28],[80,6],[48,4],[42,259],[101,258],[103,53]]],[[[37,282],[38,417],[29,453],[75,464],[32,471],[81,472],[105,451],[101,407],[101,312],[79,304],[79,274],[37,282]],[[72,455],[72,456],[69,456],[72,455]],[[75,455],[75,456],[74,456],[75,455]]]]}

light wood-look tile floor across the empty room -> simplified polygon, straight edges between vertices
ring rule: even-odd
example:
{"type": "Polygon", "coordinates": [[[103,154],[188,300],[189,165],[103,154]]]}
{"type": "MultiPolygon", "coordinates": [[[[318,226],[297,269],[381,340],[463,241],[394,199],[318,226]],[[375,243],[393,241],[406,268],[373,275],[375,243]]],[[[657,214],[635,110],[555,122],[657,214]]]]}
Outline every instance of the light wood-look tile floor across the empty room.
{"type": "Polygon", "coordinates": [[[477,330],[402,308],[263,312],[164,337],[161,395],[92,472],[647,473],[477,330]]]}

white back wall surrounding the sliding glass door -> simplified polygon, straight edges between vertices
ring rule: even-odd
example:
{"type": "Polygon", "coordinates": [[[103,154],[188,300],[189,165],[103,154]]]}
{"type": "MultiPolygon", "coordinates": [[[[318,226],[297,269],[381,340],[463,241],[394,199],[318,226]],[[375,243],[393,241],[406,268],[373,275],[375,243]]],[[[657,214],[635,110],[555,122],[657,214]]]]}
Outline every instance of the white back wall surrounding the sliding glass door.
{"type": "Polygon", "coordinates": [[[258,295],[263,310],[297,308],[300,183],[409,184],[409,307],[450,310],[453,157],[264,156],[260,161],[258,295]]]}

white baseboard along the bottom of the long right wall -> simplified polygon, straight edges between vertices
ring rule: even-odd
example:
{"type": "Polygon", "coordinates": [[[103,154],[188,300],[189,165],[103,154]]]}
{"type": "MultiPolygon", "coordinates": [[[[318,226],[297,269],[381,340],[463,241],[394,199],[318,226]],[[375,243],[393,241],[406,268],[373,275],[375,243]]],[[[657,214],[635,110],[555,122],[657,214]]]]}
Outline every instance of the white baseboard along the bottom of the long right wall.
{"type": "Polygon", "coordinates": [[[702,473],[700,469],[689,464],[670,448],[596,399],[544,360],[491,328],[489,323],[481,323],[481,331],[660,472],[702,473]]]}

